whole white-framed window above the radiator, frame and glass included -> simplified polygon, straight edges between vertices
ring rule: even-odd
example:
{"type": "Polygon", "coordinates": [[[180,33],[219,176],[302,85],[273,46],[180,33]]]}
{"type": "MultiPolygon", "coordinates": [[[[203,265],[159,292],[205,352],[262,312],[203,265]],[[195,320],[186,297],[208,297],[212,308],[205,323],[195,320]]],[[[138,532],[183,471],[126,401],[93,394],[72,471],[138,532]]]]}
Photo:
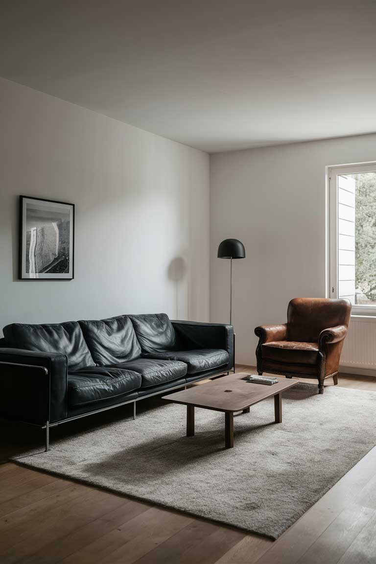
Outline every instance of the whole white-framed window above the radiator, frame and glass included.
{"type": "Polygon", "coordinates": [[[329,297],[376,315],[376,163],[329,169],[329,297]]]}

